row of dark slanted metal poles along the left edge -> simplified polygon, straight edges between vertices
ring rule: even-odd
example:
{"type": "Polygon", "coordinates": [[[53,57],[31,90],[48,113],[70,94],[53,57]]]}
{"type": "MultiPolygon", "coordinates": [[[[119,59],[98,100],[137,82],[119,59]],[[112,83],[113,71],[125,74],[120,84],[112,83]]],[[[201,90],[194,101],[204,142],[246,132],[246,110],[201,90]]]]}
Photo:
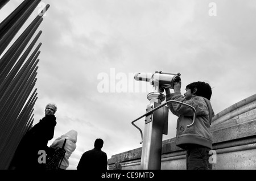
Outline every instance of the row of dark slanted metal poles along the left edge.
{"type": "MultiPolygon", "coordinates": [[[[42,15],[48,10],[49,5],[44,7],[22,33],[20,32],[19,37],[16,35],[22,30],[24,23],[40,1],[23,1],[0,24],[1,170],[9,168],[19,141],[24,133],[31,128],[34,121],[33,107],[38,98],[37,89],[34,87],[37,80],[39,48],[42,43],[35,48],[34,46],[42,33],[42,31],[36,33],[36,31],[42,23],[42,15]],[[11,44],[13,41],[14,43],[11,44]],[[34,50],[32,51],[32,49],[34,50]]],[[[0,1],[0,11],[8,2],[9,0],[0,1]]]]}

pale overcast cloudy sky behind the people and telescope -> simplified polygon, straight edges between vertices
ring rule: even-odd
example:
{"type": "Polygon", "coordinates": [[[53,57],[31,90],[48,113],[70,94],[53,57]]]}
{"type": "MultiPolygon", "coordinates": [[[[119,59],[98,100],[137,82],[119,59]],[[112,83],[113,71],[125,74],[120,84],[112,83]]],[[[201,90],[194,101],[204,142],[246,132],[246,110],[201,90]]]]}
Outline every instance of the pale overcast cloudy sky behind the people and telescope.
{"type": "MultiPolygon", "coordinates": [[[[8,2],[0,20],[21,2],[8,2]]],[[[57,104],[49,145],[71,129],[78,132],[68,169],[76,169],[96,138],[104,140],[108,158],[142,146],[131,121],[146,112],[152,87],[135,81],[134,73],[181,73],[182,94],[188,83],[208,82],[215,113],[255,94],[254,0],[42,1],[27,22],[47,4],[38,29],[34,124],[47,103],[57,104]]],[[[175,137],[176,120],[169,112],[163,140],[175,137]]],[[[143,119],[136,124],[143,130],[143,119]]]]}

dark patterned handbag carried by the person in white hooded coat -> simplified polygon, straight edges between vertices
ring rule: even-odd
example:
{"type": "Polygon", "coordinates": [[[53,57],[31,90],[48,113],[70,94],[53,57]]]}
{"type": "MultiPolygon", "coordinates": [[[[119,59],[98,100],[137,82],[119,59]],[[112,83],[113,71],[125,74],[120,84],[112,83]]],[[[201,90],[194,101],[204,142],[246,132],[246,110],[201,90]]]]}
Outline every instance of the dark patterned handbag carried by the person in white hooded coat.
{"type": "Polygon", "coordinates": [[[63,161],[63,158],[66,153],[64,149],[66,141],[67,140],[65,139],[62,148],[57,147],[52,154],[48,155],[48,157],[46,158],[46,170],[59,169],[61,162],[63,161]]]}

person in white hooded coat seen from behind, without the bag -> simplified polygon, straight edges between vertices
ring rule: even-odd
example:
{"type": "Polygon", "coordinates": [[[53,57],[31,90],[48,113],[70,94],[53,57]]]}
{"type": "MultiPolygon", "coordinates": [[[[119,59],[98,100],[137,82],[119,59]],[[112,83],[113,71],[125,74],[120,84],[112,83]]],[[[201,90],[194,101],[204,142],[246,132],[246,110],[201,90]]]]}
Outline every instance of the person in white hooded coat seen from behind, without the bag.
{"type": "Polygon", "coordinates": [[[60,169],[64,169],[64,170],[66,170],[67,167],[69,166],[68,159],[73,153],[73,151],[75,151],[76,149],[77,131],[72,129],[71,131],[61,135],[59,138],[53,141],[51,147],[55,149],[57,147],[62,148],[65,139],[67,140],[64,147],[66,153],[60,165],[60,169]]]}

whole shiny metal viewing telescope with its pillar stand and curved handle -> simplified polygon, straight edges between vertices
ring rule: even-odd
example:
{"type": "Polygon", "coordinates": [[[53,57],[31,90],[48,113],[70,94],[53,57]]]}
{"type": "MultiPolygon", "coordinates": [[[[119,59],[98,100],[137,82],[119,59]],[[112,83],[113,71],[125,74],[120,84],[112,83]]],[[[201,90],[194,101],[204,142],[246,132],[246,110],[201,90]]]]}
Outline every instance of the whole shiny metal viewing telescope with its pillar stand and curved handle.
{"type": "Polygon", "coordinates": [[[179,82],[180,73],[162,73],[162,71],[155,71],[154,74],[146,73],[135,73],[134,79],[136,81],[149,82],[154,87],[154,92],[147,95],[147,99],[150,100],[150,104],[147,105],[146,113],[138,119],[131,122],[141,132],[141,144],[142,146],[142,157],[141,157],[141,170],[156,170],[161,168],[161,157],[162,157],[162,139],[163,134],[168,133],[168,107],[166,104],[178,103],[188,106],[193,110],[193,122],[187,127],[191,127],[196,119],[196,110],[192,106],[178,102],[176,100],[169,100],[162,104],[165,99],[162,92],[164,89],[174,89],[174,83],[179,82]],[[138,121],[142,117],[145,117],[144,135],[135,121],[138,121]]]}

